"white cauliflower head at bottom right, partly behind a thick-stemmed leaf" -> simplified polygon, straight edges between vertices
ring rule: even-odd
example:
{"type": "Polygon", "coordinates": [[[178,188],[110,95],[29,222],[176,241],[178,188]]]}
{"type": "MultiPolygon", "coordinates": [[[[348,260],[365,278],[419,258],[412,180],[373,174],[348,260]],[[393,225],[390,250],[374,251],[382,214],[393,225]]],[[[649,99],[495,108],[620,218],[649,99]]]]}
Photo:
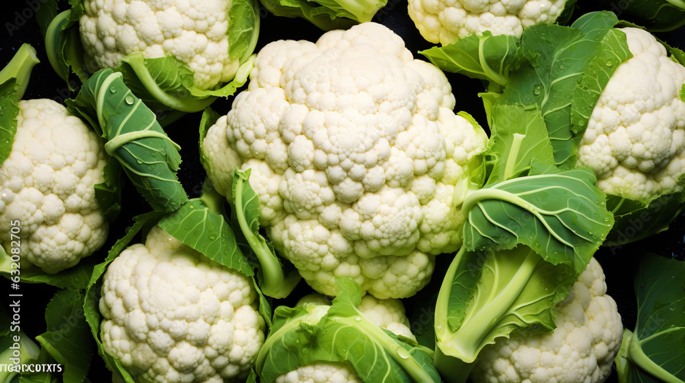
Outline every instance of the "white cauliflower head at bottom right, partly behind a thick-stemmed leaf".
{"type": "Polygon", "coordinates": [[[556,306],[549,334],[515,333],[479,354],[474,383],[596,383],[606,380],[623,339],[616,302],[606,295],[599,262],[590,260],[571,292],[556,306]]]}

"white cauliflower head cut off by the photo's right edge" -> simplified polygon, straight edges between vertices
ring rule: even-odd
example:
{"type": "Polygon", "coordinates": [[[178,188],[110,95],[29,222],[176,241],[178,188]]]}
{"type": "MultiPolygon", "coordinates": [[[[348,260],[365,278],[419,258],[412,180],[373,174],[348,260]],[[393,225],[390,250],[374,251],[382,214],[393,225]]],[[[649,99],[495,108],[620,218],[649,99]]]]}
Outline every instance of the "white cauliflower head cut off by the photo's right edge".
{"type": "Polygon", "coordinates": [[[616,68],[588,120],[577,164],[606,194],[652,200],[682,192],[685,67],[649,32],[623,28],[633,57],[616,68]]]}

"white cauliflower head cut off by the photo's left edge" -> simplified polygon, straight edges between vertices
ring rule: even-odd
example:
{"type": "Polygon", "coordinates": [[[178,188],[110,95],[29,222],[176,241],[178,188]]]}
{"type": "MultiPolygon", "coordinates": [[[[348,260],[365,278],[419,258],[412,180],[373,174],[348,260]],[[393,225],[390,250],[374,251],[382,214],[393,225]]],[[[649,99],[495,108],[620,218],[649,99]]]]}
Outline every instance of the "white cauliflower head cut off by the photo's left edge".
{"type": "Polygon", "coordinates": [[[18,107],[12,151],[0,167],[0,239],[9,254],[18,236],[21,266],[55,274],[105,243],[109,224],[95,185],[108,156],[97,133],[60,103],[18,107]],[[16,221],[21,230],[12,230],[16,221]]]}

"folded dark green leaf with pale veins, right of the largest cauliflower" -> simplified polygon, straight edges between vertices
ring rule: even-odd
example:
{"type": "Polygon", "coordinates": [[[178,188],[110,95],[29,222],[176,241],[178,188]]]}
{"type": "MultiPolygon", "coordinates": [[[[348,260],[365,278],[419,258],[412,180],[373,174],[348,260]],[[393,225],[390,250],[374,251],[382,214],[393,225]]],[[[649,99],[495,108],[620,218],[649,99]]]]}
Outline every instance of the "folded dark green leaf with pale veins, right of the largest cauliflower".
{"type": "Polygon", "coordinates": [[[547,261],[583,272],[614,222],[595,175],[578,168],[503,181],[473,192],[467,212],[467,250],[506,250],[525,244],[547,261]]]}

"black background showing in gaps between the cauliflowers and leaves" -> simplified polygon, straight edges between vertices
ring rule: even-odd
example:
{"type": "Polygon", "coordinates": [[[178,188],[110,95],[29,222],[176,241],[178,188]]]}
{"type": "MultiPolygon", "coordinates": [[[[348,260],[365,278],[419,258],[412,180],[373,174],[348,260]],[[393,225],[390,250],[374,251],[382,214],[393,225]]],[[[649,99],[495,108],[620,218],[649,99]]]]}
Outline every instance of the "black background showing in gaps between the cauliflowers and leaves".
{"type": "MultiPolygon", "coordinates": [[[[36,23],[35,7],[42,0],[20,0],[5,1],[3,12],[0,15],[1,21],[1,44],[0,44],[0,67],[7,63],[14,51],[23,42],[30,42],[38,51],[41,61],[32,73],[32,81],[24,98],[52,98],[55,101],[63,101],[64,98],[74,96],[69,92],[66,83],[53,72],[47,57],[45,56],[44,44],[38,24],[36,23]]],[[[576,12],[578,16],[591,9],[594,5],[590,2],[583,2],[583,12],[576,12]]],[[[406,11],[406,1],[388,0],[388,5],[375,16],[374,21],[382,23],[399,34],[407,44],[408,49],[414,52],[417,58],[423,58],[416,52],[421,49],[432,47],[432,44],[423,40],[418,30],[410,20],[406,11]]],[[[262,9],[262,23],[260,29],[260,40],[257,49],[264,44],[279,39],[306,39],[316,40],[323,32],[316,29],[306,21],[300,19],[279,18],[269,15],[262,9]]],[[[574,17],[575,17],[574,16],[574,17]]],[[[658,37],[669,42],[669,44],[685,49],[685,29],[666,34],[658,34],[658,37]]],[[[468,79],[460,75],[447,74],[452,85],[453,93],[457,99],[456,110],[464,110],[473,115],[480,124],[486,127],[486,120],[482,103],[477,97],[477,92],[483,90],[479,81],[468,79]]],[[[232,100],[219,100],[212,105],[214,109],[225,113],[232,100]]],[[[183,163],[179,171],[179,179],[184,185],[190,197],[199,195],[201,183],[204,179],[204,171],[199,164],[199,153],[197,148],[198,127],[200,114],[189,114],[177,120],[166,128],[169,136],[182,146],[181,155],[183,163]]],[[[110,239],[105,244],[103,250],[94,254],[92,261],[103,259],[106,250],[119,237],[123,236],[124,230],[131,224],[131,217],[139,213],[149,211],[149,205],[138,196],[134,188],[128,183],[125,185],[125,198],[123,211],[119,218],[112,224],[110,229],[110,239]]],[[[632,243],[628,246],[616,248],[601,248],[597,253],[597,259],[603,265],[606,274],[609,294],[616,300],[619,311],[623,318],[624,326],[633,328],[635,324],[636,305],[632,280],[635,271],[636,261],[646,252],[654,252],[662,256],[673,257],[685,261],[685,251],[683,243],[685,241],[685,219],[676,220],[669,230],[643,241],[632,243]]],[[[438,269],[440,265],[449,263],[449,257],[438,257],[438,269]]],[[[9,282],[0,280],[0,302],[5,302],[9,291],[9,282]]],[[[300,286],[300,289],[306,287],[300,286]]],[[[54,293],[52,287],[46,285],[22,285],[24,294],[22,306],[22,320],[24,323],[31,323],[32,326],[24,328],[27,334],[35,336],[45,331],[45,321],[43,313],[45,304],[49,302],[54,293]]],[[[4,304],[4,303],[3,303],[4,304]]],[[[432,311],[425,302],[408,300],[406,302],[408,311],[432,311]]],[[[91,371],[104,369],[102,362],[94,358],[91,371]]],[[[101,381],[102,375],[92,374],[93,382],[101,381]]],[[[609,382],[616,381],[616,374],[612,374],[609,382]]]]}

